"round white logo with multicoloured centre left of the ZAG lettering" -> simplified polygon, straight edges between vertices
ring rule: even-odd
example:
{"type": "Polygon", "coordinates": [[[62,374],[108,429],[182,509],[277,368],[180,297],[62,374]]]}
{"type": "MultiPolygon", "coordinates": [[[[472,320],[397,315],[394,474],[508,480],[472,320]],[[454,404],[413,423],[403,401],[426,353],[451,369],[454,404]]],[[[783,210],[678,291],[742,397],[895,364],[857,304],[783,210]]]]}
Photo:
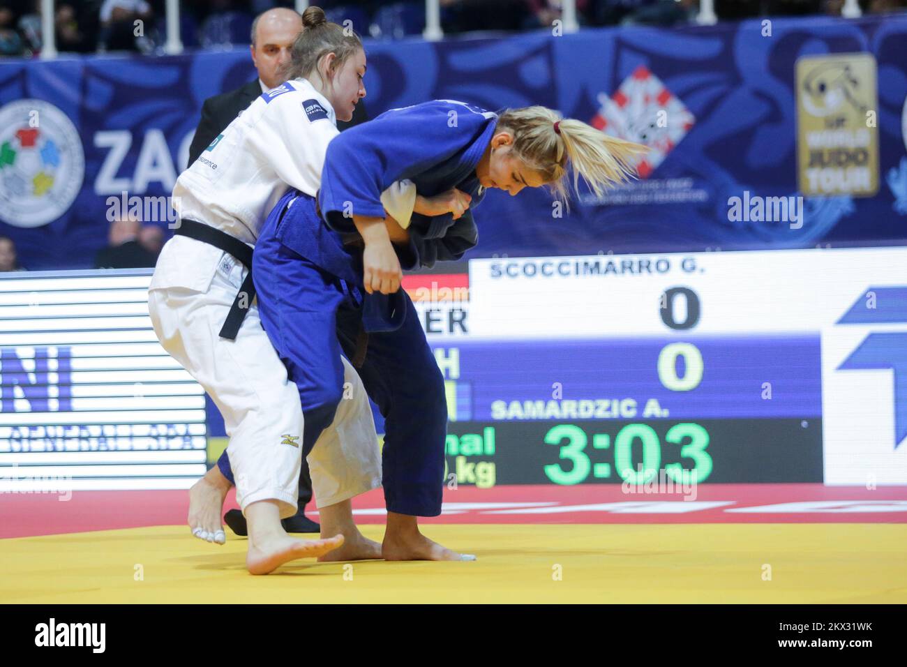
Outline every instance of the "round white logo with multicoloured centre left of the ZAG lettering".
{"type": "Polygon", "coordinates": [[[56,220],[73,205],[84,173],[79,133],[53,104],[0,108],[0,219],[15,227],[56,220]]]}

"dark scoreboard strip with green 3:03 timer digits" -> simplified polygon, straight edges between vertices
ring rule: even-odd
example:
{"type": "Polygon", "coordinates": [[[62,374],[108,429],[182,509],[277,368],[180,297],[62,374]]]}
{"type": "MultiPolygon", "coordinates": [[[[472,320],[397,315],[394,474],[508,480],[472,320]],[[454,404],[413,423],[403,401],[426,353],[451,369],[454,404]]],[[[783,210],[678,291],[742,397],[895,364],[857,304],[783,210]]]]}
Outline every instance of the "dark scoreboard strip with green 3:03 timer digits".
{"type": "Polygon", "coordinates": [[[447,488],[621,484],[680,493],[699,484],[821,482],[814,419],[456,422],[447,488]]]}

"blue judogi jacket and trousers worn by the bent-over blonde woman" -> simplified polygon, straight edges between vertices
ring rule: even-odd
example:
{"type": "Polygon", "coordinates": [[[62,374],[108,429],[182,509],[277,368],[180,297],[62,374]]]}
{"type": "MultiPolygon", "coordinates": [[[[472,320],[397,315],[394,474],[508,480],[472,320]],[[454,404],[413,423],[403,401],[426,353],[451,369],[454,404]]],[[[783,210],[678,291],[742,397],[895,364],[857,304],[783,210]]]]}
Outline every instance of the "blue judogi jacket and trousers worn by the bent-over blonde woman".
{"type": "MultiPolygon", "coordinates": [[[[384,217],[381,192],[403,179],[414,181],[424,196],[459,188],[473,196],[474,207],[483,198],[475,166],[495,123],[493,113],[433,101],[350,128],[328,146],[318,196],[322,217],[314,199],[288,191],[255,247],[258,312],[299,389],[304,453],[333,421],[342,399],[342,350],[385,417],[383,477],[390,512],[441,513],[444,378],[405,291],[369,295],[362,288],[361,246],[350,244],[359,237],[344,212],[384,217]]],[[[470,211],[457,221],[450,213],[414,214],[409,233],[408,247],[396,249],[407,269],[460,259],[478,237],[470,211]]],[[[226,453],[219,466],[231,478],[226,453]]]]}

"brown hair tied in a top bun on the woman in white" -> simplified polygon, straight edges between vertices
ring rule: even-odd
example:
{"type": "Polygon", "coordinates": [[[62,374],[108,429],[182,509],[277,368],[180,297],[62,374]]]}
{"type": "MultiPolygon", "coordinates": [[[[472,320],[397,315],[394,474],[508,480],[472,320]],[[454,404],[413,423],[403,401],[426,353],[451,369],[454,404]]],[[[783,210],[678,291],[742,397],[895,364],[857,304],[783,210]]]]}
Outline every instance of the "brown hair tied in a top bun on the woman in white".
{"type": "MultiPolygon", "coordinates": [[[[302,13],[302,32],[297,35],[290,61],[283,71],[284,81],[305,78],[318,72],[321,56],[335,54],[331,71],[336,71],[346,59],[362,49],[359,35],[340,25],[330,23],[321,7],[310,6],[302,13]]],[[[318,72],[321,77],[321,73],[318,72]]],[[[324,79],[322,79],[324,82],[324,79]]]]}

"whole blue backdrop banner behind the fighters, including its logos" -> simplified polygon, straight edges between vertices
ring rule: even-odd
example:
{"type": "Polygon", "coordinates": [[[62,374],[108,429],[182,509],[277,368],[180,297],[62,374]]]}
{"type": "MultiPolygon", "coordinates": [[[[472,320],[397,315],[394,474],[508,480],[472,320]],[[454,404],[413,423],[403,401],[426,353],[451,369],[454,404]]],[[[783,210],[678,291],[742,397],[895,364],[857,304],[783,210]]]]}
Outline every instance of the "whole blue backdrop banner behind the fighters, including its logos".
{"type": "MultiPolygon", "coordinates": [[[[640,178],[561,211],[493,191],[469,257],[884,245],[907,239],[907,17],[366,43],[370,115],[432,98],[544,104],[649,145],[640,178]]],[[[0,64],[0,234],[83,268],[132,197],[166,224],[205,98],[247,49],[0,64]]]]}

